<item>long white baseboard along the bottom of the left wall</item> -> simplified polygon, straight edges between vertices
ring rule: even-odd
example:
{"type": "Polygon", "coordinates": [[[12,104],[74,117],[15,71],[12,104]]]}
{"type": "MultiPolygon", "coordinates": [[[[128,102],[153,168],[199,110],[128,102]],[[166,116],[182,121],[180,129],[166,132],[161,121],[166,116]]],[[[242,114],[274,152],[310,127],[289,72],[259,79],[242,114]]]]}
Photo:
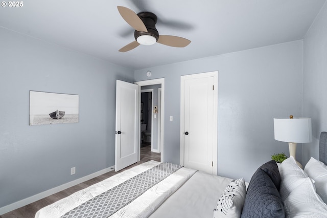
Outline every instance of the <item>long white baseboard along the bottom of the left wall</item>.
{"type": "Polygon", "coordinates": [[[12,210],[16,210],[16,209],[18,209],[20,207],[24,207],[25,205],[31,204],[31,203],[33,203],[35,201],[38,201],[38,200],[43,199],[45,197],[48,197],[49,195],[55,194],[55,193],[57,193],[59,191],[65,190],[65,189],[70,188],[70,187],[72,187],[74,185],[78,185],[78,184],[80,184],[82,182],[85,182],[87,180],[90,180],[90,179],[93,179],[93,178],[98,177],[100,175],[103,175],[104,173],[110,172],[113,169],[114,169],[114,166],[108,167],[106,169],[102,169],[102,170],[100,170],[98,172],[92,173],[90,175],[79,178],[79,179],[74,180],[72,182],[65,183],[65,184],[57,186],[55,188],[43,191],[43,192],[38,193],[38,194],[35,194],[35,195],[33,195],[33,196],[29,197],[29,198],[22,199],[20,201],[15,202],[15,203],[9,204],[9,205],[4,206],[4,207],[1,207],[0,208],[0,215],[8,213],[8,212],[10,212],[12,210]]]}

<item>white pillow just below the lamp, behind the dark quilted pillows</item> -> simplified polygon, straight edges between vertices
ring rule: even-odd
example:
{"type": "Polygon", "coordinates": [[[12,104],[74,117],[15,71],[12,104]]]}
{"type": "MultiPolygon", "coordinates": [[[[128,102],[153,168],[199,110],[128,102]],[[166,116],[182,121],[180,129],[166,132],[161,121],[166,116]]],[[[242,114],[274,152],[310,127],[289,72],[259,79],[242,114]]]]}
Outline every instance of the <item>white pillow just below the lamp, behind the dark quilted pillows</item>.
{"type": "Polygon", "coordinates": [[[278,170],[279,175],[281,175],[281,188],[279,188],[279,194],[281,194],[282,200],[285,201],[288,195],[300,185],[304,179],[308,178],[308,175],[296,164],[292,156],[283,161],[278,170]]]}

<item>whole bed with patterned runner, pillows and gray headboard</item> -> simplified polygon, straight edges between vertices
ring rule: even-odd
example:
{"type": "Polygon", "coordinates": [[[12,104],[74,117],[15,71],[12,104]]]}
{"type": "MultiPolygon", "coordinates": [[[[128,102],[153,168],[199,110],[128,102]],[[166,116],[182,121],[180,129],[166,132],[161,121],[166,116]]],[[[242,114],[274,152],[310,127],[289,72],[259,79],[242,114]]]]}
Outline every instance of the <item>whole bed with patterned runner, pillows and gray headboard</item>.
{"type": "Polygon", "coordinates": [[[327,133],[319,160],[268,161],[249,183],[149,161],[40,209],[52,217],[326,217],[327,133]]]}

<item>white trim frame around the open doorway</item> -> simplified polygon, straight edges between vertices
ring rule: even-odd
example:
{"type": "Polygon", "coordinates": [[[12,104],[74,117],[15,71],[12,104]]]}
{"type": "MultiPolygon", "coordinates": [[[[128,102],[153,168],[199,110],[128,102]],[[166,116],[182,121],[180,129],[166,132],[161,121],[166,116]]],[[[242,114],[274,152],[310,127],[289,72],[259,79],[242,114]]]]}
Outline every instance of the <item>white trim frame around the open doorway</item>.
{"type": "MultiPolygon", "coordinates": [[[[159,78],[159,79],[150,79],[150,80],[143,80],[143,81],[137,81],[135,84],[139,86],[145,86],[145,85],[156,85],[161,84],[161,115],[160,115],[160,144],[158,145],[160,147],[160,162],[165,160],[165,152],[164,152],[164,117],[165,117],[165,78],[159,78]]],[[[139,89],[141,90],[141,88],[139,89]]],[[[139,91],[139,101],[141,101],[141,91],[139,91]]],[[[141,107],[138,109],[138,114],[141,116],[141,107]]],[[[141,135],[141,122],[139,122],[139,128],[138,128],[138,135],[141,135]]],[[[151,139],[152,140],[152,139],[151,139]]],[[[141,151],[141,140],[138,142],[138,148],[139,151],[141,151]]],[[[158,149],[159,149],[158,147],[158,149]]],[[[138,161],[141,160],[141,152],[138,152],[138,161]]]]}

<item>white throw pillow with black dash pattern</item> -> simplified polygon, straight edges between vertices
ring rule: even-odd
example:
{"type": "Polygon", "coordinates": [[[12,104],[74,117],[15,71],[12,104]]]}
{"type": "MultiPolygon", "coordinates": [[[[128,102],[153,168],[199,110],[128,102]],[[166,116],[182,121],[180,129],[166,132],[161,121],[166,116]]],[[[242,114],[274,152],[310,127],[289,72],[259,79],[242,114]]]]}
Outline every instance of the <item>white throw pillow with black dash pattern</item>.
{"type": "Polygon", "coordinates": [[[232,181],[227,185],[214,209],[214,218],[241,217],[246,195],[244,179],[232,181]]]}

